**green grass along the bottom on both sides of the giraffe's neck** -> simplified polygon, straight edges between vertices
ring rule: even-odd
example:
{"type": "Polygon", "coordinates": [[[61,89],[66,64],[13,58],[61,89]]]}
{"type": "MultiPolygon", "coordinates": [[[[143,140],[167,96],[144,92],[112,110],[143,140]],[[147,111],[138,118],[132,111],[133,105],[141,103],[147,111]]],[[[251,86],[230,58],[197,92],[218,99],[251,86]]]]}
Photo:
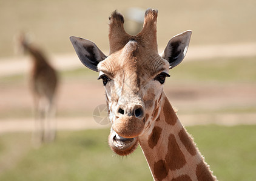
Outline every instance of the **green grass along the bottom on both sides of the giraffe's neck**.
{"type": "MultiPolygon", "coordinates": [[[[187,130],[219,180],[256,180],[256,125],[187,130]]],[[[0,171],[0,180],[152,180],[140,148],[127,157],[115,156],[107,145],[108,135],[109,130],[60,132],[55,143],[30,149],[12,168],[0,171]]],[[[6,144],[25,139],[2,135],[0,155],[8,151],[6,144]]]]}

